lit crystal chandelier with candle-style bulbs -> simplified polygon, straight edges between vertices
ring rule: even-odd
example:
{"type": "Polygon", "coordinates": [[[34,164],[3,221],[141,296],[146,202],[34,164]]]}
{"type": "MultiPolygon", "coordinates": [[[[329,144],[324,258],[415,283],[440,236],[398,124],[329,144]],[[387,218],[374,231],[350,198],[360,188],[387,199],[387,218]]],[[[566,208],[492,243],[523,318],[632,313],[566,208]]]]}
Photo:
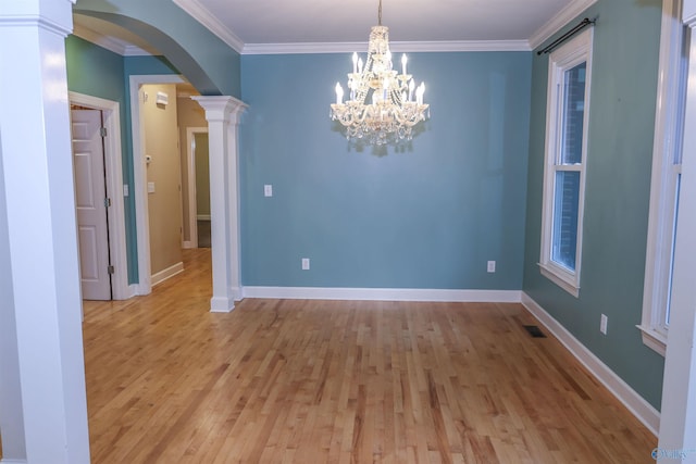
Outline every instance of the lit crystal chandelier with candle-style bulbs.
{"type": "Polygon", "coordinates": [[[348,100],[336,84],[336,103],[331,105],[332,121],[338,121],[348,139],[384,145],[411,140],[413,126],[430,117],[428,104],[423,103],[425,84],[418,88],[407,74],[407,57],[401,57],[401,74],[391,70],[389,28],[382,25],[380,0],[378,25],[370,32],[368,60],[352,54],[352,73],[348,74],[348,100]]]}

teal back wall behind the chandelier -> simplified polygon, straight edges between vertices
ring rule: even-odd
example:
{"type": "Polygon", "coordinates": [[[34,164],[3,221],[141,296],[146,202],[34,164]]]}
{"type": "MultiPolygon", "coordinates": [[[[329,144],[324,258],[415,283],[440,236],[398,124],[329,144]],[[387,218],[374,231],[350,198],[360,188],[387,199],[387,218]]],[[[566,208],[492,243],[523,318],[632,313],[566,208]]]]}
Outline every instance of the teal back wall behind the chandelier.
{"type": "Polygon", "coordinates": [[[531,63],[410,54],[432,118],[405,149],[374,152],[328,118],[349,53],[244,55],[243,284],[521,289],[531,63]]]}

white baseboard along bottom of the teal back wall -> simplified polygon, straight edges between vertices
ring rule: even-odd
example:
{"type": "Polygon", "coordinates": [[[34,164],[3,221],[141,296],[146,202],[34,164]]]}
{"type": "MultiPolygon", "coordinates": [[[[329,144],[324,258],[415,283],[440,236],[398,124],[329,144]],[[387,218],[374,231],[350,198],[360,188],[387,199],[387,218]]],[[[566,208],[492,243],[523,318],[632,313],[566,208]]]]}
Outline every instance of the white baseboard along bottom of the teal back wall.
{"type": "Polygon", "coordinates": [[[244,287],[244,298],[288,300],[373,300],[519,303],[520,290],[437,290],[410,288],[244,287]]]}

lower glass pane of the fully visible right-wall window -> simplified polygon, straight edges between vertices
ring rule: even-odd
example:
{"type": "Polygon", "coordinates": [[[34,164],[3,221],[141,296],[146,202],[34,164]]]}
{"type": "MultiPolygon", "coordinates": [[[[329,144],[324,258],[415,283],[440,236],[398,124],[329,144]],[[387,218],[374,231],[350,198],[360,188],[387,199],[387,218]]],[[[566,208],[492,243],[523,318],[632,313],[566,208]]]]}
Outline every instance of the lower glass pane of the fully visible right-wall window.
{"type": "Polygon", "coordinates": [[[554,191],[554,238],[551,261],[575,271],[580,173],[557,172],[554,191]]]}

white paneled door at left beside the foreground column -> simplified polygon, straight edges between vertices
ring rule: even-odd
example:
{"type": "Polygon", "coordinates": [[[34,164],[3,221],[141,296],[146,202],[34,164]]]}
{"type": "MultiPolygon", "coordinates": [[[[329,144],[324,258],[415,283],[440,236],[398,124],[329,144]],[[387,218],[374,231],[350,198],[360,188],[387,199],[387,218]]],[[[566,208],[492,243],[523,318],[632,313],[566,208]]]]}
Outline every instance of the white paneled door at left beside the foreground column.
{"type": "Polygon", "coordinates": [[[111,300],[101,111],[72,110],[79,264],[85,300],[111,300]]]}

